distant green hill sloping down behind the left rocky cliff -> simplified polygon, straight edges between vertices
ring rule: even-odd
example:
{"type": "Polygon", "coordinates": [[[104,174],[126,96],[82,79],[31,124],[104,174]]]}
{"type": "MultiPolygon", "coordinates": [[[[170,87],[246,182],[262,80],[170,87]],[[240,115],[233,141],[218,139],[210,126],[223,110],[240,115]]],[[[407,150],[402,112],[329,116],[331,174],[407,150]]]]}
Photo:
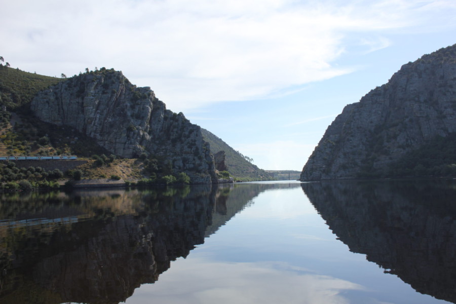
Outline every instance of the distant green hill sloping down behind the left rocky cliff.
{"type": "Polygon", "coordinates": [[[226,142],[212,134],[206,129],[201,129],[203,138],[210,144],[210,150],[213,155],[219,151],[225,151],[225,164],[227,171],[230,172],[235,180],[272,180],[272,176],[257,166],[251,164],[238,151],[229,146],[226,142]]]}

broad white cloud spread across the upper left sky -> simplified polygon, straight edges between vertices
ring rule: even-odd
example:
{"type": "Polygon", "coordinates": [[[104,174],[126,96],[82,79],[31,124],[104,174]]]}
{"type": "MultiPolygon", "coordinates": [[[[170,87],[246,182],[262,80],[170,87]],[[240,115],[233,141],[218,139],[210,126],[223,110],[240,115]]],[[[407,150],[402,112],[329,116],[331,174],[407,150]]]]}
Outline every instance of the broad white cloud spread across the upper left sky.
{"type": "Polygon", "coordinates": [[[334,64],[350,33],[369,33],[354,43],[374,51],[389,45],[382,31],[454,9],[448,1],[405,0],[18,0],[3,4],[2,56],[49,75],[121,69],[181,111],[351,72],[334,64]]]}

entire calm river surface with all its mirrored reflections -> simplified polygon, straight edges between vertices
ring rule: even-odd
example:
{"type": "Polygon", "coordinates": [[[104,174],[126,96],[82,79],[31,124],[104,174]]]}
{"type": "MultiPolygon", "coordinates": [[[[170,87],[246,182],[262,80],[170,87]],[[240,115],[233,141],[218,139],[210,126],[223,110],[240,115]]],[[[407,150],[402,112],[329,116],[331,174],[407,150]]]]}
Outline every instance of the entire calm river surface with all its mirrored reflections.
{"type": "Polygon", "coordinates": [[[0,196],[0,303],[456,302],[456,182],[0,196]]]}

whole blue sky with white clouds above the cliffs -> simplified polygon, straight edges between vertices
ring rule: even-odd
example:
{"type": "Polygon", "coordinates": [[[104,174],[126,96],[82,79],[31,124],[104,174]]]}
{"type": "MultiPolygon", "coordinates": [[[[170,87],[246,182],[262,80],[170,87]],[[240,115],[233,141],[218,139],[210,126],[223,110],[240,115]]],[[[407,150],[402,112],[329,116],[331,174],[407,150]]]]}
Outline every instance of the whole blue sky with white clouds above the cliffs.
{"type": "Polygon", "coordinates": [[[454,0],[0,0],[0,56],[121,70],[266,170],[298,170],[344,106],[456,43],[454,0]]]}

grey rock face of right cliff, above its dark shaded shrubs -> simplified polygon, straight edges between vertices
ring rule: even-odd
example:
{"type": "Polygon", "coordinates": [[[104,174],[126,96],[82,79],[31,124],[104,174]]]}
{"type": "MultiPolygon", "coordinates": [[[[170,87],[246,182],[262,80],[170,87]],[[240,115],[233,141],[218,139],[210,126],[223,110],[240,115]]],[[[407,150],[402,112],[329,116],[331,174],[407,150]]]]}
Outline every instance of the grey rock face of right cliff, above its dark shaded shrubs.
{"type": "Polygon", "coordinates": [[[347,105],[304,166],[301,180],[388,176],[406,153],[456,132],[456,45],[409,62],[347,105]]]}

